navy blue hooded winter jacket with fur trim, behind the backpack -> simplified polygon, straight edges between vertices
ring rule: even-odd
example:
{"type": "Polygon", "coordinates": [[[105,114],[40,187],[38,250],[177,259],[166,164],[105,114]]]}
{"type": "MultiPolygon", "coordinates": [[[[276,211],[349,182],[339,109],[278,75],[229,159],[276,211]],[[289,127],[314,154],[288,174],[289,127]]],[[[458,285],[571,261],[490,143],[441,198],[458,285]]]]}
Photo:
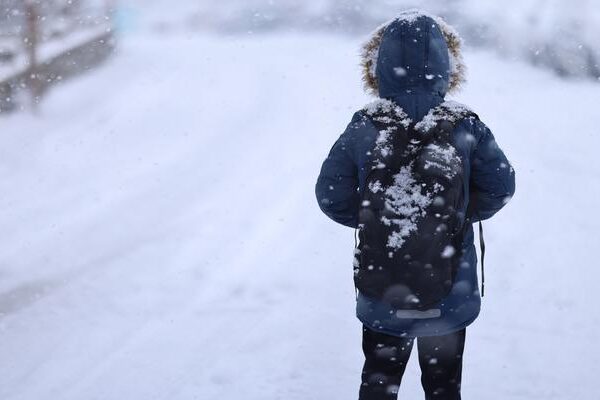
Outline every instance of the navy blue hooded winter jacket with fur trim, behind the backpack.
{"type": "MultiPolygon", "coordinates": [[[[443,20],[418,11],[402,13],[377,29],[363,46],[365,87],[399,105],[413,121],[421,121],[430,109],[445,101],[448,92],[463,83],[460,45],[456,31],[443,20]]],[[[358,226],[361,192],[379,134],[367,116],[368,110],[369,106],[358,111],[335,142],[315,188],[321,210],[352,228],[358,226]]],[[[513,168],[492,132],[478,119],[460,122],[453,140],[463,159],[465,198],[469,199],[462,211],[468,208],[474,215],[472,221],[488,219],[514,194],[513,168]]],[[[443,335],[469,325],[477,318],[481,304],[473,239],[469,224],[452,290],[436,307],[441,310],[439,317],[407,318],[387,303],[361,293],[357,317],[371,329],[397,336],[443,335]]]]}

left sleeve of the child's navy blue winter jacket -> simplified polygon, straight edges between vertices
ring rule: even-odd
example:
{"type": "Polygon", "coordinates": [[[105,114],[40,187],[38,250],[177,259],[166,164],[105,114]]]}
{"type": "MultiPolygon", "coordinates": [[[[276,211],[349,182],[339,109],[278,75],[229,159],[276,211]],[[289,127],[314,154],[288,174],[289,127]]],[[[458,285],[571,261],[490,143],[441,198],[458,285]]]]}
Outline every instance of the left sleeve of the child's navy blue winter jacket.
{"type": "Polygon", "coordinates": [[[323,162],[315,194],[325,215],[337,223],[356,228],[360,196],[350,130],[340,136],[323,162]]]}

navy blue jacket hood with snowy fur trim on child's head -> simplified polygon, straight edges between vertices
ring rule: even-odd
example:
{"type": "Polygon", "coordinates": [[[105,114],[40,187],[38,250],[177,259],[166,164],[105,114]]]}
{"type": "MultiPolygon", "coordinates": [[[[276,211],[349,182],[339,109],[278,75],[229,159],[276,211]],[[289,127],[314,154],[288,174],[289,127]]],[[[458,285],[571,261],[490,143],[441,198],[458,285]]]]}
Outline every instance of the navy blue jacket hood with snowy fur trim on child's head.
{"type": "Polygon", "coordinates": [[[441,18],[405,11],[377,28],[362,46],[365,89],[391,99],[413,93],[444,98],[465,82],[461,46],[456,30],[441,18]]]}

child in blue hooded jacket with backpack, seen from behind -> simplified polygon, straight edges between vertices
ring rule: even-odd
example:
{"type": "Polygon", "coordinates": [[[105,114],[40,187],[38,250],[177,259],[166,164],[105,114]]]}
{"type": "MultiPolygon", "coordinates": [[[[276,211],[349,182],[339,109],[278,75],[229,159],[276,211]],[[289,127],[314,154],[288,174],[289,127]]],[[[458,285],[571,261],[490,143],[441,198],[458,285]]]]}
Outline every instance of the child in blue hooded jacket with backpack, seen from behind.
{"type": "Polygon", "coordinates": [[[395,399],[417,342],[427,399],[460,399],[465,328],[480,309],[472,223],[512,197],[515,175],[490,130],[445,101],[464,81],[461,40],[408,11],[364,45],[358,111],[323,163],[316,195],[357,228],[360,399],[395,399]]]}

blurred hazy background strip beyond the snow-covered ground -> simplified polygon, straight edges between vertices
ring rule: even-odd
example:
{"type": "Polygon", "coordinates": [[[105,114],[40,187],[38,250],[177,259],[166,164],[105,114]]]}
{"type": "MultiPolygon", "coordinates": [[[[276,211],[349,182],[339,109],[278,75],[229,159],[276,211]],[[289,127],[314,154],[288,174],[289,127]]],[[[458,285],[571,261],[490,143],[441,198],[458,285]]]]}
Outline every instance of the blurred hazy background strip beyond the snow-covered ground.
{"type": "Polygon", "coordinates": [[[34,98],[46,87],[93,69],[114,48],[115,29],[222,35],[323,32],[358,36],[398,9],[421,7],[455,25],[469,45],[600,79],[600,7],[592,0],[2,0],[0,111],[18,107],[19,86],[34,98]],[[32,76],[33,75],[33,76],[32,76]]]}

